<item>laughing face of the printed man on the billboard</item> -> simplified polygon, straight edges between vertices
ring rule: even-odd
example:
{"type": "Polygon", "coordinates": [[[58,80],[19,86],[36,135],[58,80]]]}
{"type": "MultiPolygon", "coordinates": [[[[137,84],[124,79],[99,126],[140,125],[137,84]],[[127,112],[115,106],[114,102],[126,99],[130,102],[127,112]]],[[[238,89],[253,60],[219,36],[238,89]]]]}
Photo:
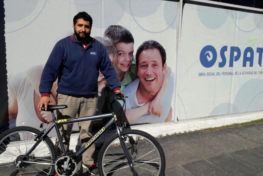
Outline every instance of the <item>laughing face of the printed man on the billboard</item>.
{"type": "Polygon", "coordinates": [[[137,75],[140,79],[140,88],[156,95],[161,88],[166,63],[162,65],[160,51],[156,48],[142,51],[138,57],[137,75]]]}

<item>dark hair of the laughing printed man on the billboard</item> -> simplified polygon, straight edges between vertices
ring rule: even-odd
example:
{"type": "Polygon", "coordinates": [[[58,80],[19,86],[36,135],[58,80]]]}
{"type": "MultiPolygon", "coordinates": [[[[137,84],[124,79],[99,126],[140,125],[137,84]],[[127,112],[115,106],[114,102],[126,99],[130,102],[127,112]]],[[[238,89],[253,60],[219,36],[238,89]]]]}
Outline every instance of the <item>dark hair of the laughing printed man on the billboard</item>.
{"type": "Polygon", "coordinates": [[[147,40],[143,42],[139,48],[136,51],[136,68],[138,70],[138,64],[139,64],[139,55],[141,54],[142,51],[147,50],[147,49],[158,49],[160,51],[161,57],[162,57],[162,64],[164,66],[164,63],[166,62],[166,52],[164,47],[156,42],[155,40],[147,40]]]}

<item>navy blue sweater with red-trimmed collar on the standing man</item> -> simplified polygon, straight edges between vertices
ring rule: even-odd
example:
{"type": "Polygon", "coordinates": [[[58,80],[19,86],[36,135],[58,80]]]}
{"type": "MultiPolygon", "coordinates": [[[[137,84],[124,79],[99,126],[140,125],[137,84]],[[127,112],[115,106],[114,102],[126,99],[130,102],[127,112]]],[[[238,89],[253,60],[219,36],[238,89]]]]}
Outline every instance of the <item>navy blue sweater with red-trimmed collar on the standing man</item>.
{"type": "Polygon", "coordinates": [[[54,46],[44,67],[39,91],[50,95],[58,77],[57,93],[64,95],[95,95],[98,93],[99,70],[114,91],[121,87],[106,48],[90,37],[84,48],[75,35],[61,39],[54,46]]]}

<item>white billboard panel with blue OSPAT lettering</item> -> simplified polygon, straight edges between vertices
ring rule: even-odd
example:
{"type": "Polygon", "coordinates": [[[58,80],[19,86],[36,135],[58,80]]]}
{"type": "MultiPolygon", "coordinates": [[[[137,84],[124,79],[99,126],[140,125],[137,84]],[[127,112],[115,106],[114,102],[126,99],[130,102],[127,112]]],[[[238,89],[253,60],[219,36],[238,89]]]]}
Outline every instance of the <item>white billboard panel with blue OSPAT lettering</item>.
{"type": "Polygon", "coordinates": [[[263,109],[261,14],[185,4],[178,120],[263,109]]]}

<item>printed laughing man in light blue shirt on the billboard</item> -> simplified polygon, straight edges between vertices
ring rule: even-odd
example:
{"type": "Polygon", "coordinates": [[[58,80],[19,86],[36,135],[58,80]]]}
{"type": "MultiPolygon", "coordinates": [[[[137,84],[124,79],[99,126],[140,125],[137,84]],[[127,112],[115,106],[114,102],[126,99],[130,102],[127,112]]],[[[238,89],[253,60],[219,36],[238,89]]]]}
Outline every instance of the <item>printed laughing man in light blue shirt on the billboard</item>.
{"type": "Polygon", "coordinates": [[[136,69],[139,78],[125,87],[123,93],[128,96],[126,99],[126,117],[128,123],[142,124],[142,123],[156,123],[171,121],[172,108],[171,101],[174,91],[174,74],[171,73],[168,80],[168,86],[163,92],[161,98],[162,113],[159,111],[148,112],[138,111],[141,106],[149,104],[156,97],[161,90],[164,79],[166,65],[166,52],[163,46],[154,40],[143,42],[136,52],[136,69]],[[132,112],[133,109],[136,112],[132,112]],[[130,116],[127,114],[138,114],[130,116]]]}

